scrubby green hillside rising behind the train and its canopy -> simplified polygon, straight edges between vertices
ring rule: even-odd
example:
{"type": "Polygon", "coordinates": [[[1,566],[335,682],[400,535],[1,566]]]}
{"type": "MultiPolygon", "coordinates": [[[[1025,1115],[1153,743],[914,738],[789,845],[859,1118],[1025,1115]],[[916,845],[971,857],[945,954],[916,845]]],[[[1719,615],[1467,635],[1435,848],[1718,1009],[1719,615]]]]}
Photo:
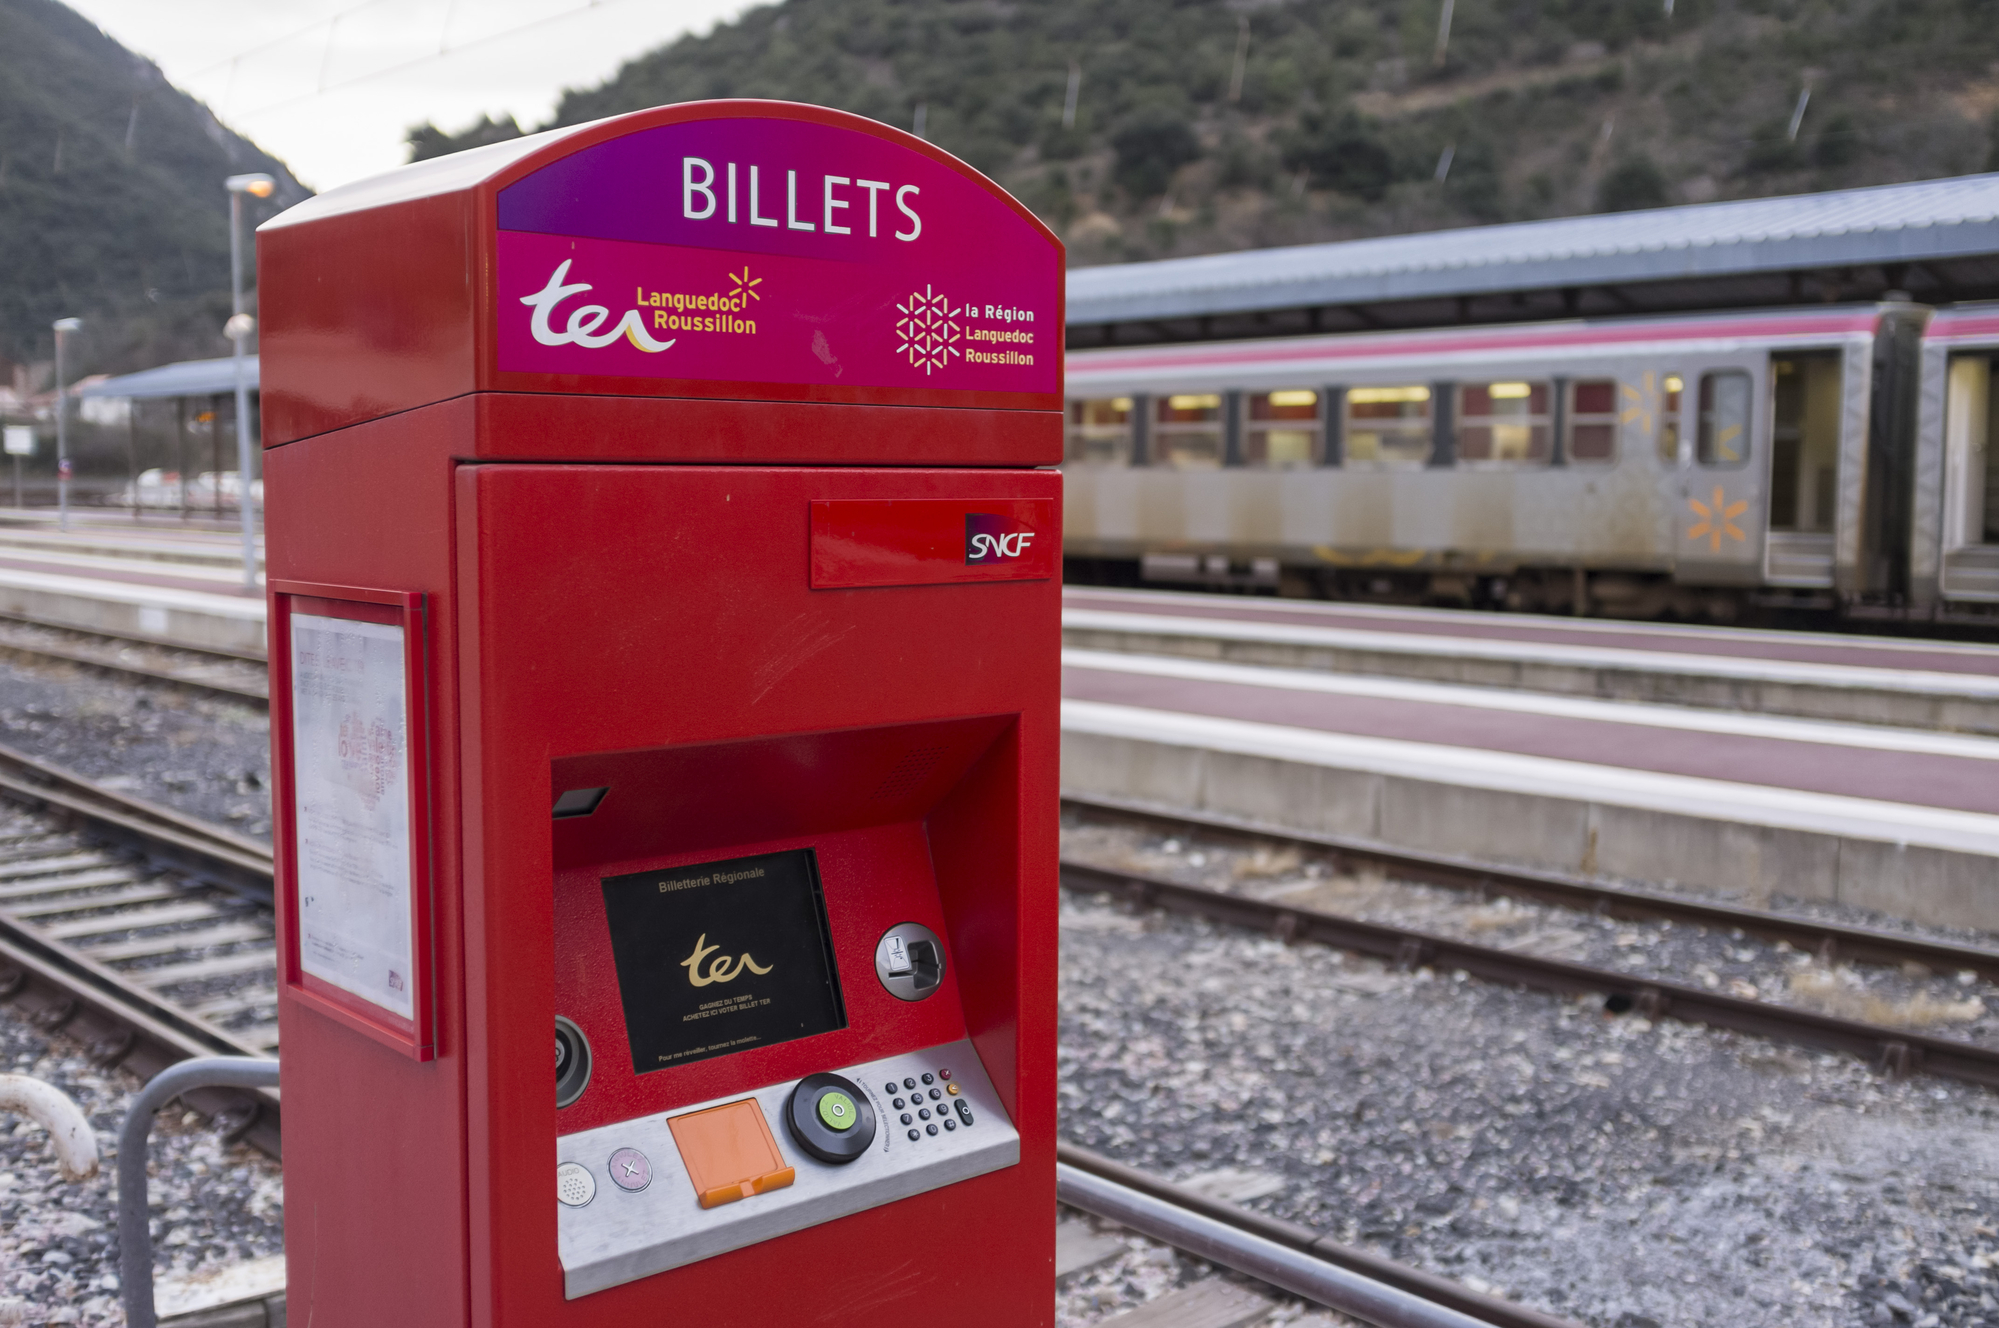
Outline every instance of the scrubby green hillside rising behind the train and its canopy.
{"type": "MultiPolygon", "coordinates": [[[[712,96],[902,128],[922,112],[926,138],[1039,210],[1077,264],[1921,180],[1993,158],[1991,0],[1675,0],[1671,14],[1663,0],[1455,0],[1441,64],[1439,12],[786,0],[570,92],[554,122],[712,96]]],[[[412,150],[508,132],[424,126],[412,150]]]]}

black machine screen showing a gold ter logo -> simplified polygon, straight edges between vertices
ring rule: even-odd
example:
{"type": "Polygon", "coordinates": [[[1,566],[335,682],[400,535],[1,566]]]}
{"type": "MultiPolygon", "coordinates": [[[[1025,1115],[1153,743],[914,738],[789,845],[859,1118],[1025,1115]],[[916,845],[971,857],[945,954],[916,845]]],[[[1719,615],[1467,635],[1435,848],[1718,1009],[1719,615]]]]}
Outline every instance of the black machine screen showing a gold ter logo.
{"type": "Polygon", "coordinates": [[[846,1028],[810,848],[604,878],[632,1070],[846,1028]]]}

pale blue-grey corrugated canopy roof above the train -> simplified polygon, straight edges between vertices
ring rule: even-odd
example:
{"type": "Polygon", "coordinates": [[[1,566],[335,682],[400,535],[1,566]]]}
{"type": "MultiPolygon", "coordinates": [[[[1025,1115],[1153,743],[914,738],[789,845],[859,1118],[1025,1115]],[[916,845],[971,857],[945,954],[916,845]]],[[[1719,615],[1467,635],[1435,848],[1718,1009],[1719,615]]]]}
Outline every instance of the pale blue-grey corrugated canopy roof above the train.
{"type": "Polygon", "coordinates": [[[1999,174],[1077,268],[1067,320],[1087,346],[1885,290],[1999,294],[1999,174]]]}

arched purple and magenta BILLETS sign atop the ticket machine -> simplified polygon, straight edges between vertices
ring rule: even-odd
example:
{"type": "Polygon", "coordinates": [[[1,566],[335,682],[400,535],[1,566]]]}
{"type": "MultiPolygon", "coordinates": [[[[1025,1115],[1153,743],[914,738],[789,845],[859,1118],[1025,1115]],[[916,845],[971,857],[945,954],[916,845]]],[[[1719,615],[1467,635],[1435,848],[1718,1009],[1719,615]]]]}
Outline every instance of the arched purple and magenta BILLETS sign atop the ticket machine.
{"type": "Polygon", "coordinates": [[[1055,392],[1061,254],[914,148],[832,124],[664,124],[498,198],[502,372],[1055,392]]]}

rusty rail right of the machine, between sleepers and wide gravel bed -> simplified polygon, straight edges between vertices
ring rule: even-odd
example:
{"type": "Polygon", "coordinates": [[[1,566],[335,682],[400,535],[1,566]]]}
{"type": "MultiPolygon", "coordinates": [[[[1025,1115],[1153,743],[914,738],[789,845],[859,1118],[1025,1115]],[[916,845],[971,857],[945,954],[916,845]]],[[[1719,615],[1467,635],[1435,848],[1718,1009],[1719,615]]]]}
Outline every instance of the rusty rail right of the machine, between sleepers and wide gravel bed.
{"type": "Polygon", "coordinates": [[[1999,1088],[1999,1048],[1951,1042],[1949,1038],[1933,1038],[1861,1020],[1843,1020],[1765,1000],[1723,996],[1683,982],[1641,978],[1589,964],[1495,950],[1477,942],[1419,932],[1415,928],[1361,922],[1297,904],[1265,902],[1081,862],[1061,864],[1061,884],[1071,890],[1121,894],[1145,906],[1269,932],[1287,942],[1313,940],[1339,950],[1373,954],[1403,968],[1463,968],[1477,978],[1509,986],[1561,994],[1595,994],[1603,996],[1605,1004],[1617,1012],[1635,1010],[1645,1018],[1671,1016],[1687,1024],[1709,1024],[1759,1038],[1847,1052],[1873,1062],[1887,1074],[1927,1072],[1983,1088],[1999,1088]]]}

